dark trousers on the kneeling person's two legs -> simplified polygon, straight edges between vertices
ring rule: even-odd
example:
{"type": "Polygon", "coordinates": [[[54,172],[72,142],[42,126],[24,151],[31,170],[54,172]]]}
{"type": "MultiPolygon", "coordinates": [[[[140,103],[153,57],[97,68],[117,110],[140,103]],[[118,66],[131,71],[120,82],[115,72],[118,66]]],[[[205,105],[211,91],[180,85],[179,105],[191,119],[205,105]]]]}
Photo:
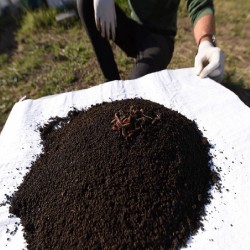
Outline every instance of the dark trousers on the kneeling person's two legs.
{"type": "MultiPolygon", "coordinates": [[[[173,55],[173,38],[136,23],[127,17],[118,5],[115,8],[117,27],[114,42],[127,56],[136,59],[129,79],[165,69],[173,55]]],[[[93,0],[77,0],[77,10],[104,77],[107,81],[120,80],[111,45],[96,28],[93,0]]]]}

